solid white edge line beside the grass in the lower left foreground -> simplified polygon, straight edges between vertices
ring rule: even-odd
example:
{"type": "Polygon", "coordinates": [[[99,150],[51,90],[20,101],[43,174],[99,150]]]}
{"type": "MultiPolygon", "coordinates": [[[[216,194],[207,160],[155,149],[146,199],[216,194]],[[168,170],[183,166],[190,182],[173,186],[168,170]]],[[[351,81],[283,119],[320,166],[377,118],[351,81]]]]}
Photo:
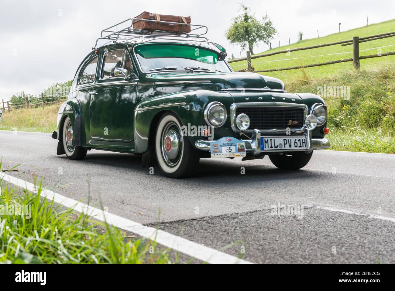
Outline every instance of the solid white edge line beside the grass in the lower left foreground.
{"type": "MultiPolygon", "coordinates": [[[[37,188],[34,184],[26,182],[24,180],[15,178],[13,176],[9,176],[7,174],[0,173],[0,180],[8,181],[14,185],[19,187],[23,187],[29,191],[36,191],[37,188]]],[[[197,244],[196,242],[191,242],[179,236],[175,236],[166,231],[162,231],[160,229],[155,229],[153,227],[147,227],[140,223],[134,222],[132,220],[120,217],[115,214],[103,212],[98,208],[94,208],[92,206],[88,206],[82,202],[79,202],[74,199],[67,198],[63,195],[55,193],[51,190],[43,189],[41,191],[41,197],[48,198],[53,200],[56,203],[62,204],[66,207],[73,208],[77,212],[84,212],[95,219],[101,221],[107,221],[107,223],[114,225],[120,229],[124,229],[126,231],[133,232],[135,234],[139,234],[146,238],[150,238],[151,240],[156,240],[158,244],[162,244],[168,248],[172,248],[176,251],[180,251],[191,257],[199,259],[201,261],[205,261],[211,264],[252,264],[248,261],[238,259],[237,257],[233,257],[226,253],[222,253],[217,251],[216,249],[208,248],[197,244]]]]}

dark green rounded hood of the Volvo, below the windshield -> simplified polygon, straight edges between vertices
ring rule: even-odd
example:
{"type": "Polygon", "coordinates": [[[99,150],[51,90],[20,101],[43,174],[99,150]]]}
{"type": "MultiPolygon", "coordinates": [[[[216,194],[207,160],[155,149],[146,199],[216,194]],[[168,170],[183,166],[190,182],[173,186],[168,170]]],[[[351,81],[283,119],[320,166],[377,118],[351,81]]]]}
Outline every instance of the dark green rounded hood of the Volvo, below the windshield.
{"type": "MultiPolygon", "coordinates": [[[[270,89],[284,89],[284,83],[280,79],[262,76],[249,72],[161,72],[150,74],[149,78],[154,78],[155,83],[186,82],[205,83],[215,87],[216,91],[227,88],[254,88],[260,89],[269,87],[270,89]]],[[[213,88],[214,89],[214,88],[213,88]]]]}

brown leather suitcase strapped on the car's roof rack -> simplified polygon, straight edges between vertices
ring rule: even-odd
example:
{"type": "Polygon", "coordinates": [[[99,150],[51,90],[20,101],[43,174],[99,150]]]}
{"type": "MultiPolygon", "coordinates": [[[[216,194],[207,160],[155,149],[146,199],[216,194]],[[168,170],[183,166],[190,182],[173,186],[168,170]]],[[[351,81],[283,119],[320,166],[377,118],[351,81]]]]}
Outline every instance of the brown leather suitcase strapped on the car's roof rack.
{"type": "Polygon", "coordinates": [[[163,30],[166,32],[173,32],[176,34],[183,34],[191,32],[191,26],[185,25],[191,23],[191,17],[163,15],[144,11],[135,18],[141,19],[154,19],[154,21],[133,20],[133,28],[147,30],[153,32],[154,30],[163,30]],[[182,24],[173,23],[160,23],[159,21],[177,22],[182,24]]]}

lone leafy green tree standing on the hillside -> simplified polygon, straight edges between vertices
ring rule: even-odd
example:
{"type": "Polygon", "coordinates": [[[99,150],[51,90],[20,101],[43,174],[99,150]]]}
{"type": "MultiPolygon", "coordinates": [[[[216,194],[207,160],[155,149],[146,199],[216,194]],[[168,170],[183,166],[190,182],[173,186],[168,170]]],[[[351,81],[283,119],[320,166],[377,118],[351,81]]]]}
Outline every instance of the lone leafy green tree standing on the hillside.
{"type": "Polygon", "coordinates": [[[250,53],[254,54],[252,51],[254,45],[259,42],[269,44],[277,34],[277,30],[267,14],[262,20],[258,20],[247,6],[240,4],[240,10],[243,13],[233,18],[233,23],[226,32],[226,38],[231,43],[239,44],[242,49],[248,47],[250,53]]]}

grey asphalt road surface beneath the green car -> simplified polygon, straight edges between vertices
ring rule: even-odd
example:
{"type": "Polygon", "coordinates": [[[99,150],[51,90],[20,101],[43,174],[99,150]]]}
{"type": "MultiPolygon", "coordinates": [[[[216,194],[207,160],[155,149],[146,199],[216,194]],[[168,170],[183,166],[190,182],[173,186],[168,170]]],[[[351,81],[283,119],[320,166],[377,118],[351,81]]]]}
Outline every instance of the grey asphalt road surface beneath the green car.
{"type": "Polygon", "coordinates": [[[253,263],[395,263],[395,155],[315,151],[296,172],[268,157],[201,159],[194,177],[174,180],[134,155],[70,161],[50,134],[0,131],[0,156],[3,169],[21,164],[9,175],[34,171],[56,193],[253,263]],[[298,211],[274,212],[278,203],[298,211]]]}

